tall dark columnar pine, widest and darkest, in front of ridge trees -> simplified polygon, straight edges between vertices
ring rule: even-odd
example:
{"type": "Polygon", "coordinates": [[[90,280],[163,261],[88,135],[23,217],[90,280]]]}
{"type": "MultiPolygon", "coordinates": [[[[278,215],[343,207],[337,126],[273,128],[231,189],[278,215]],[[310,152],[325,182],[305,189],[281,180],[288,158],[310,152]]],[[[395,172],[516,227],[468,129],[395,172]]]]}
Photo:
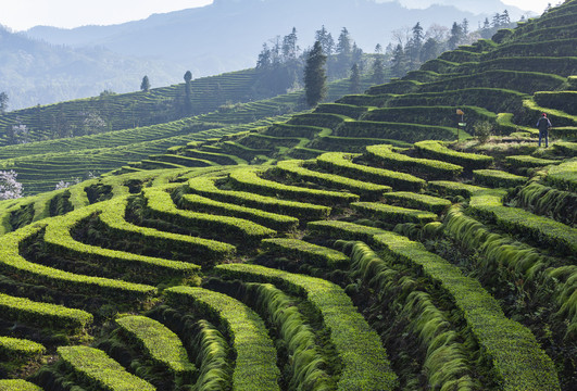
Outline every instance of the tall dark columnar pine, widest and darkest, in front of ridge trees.
{"type": "Polygon", "coordinates": [[[326,54],[319,41],[314,42],[309,52],[304,66],[304,93],[306,103],[313,108],[323,100],[326,94],[326,54]]]}

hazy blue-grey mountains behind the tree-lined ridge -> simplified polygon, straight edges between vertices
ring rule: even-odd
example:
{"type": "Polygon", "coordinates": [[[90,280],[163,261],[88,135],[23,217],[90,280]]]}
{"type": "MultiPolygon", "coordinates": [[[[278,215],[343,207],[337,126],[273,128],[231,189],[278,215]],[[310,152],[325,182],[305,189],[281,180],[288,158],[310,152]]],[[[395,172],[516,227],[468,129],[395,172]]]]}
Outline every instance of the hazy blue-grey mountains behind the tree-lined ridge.
{"type": "Polygon", "coordinates": [[[137,90],[145,74],[159,87],[180,83],[187,70],[199,77],[252,67],[262,43],[293,26],[301,48],[313,43],[314,31],[324,24],[335,38],[346,26],[356,43],[372,52],[376,43],[390,41],[391,30],[416,22],[427,28],[467,18],[476,28],[478,21],[504,9],[513,20],[522,14],[499,0],[482,4],[471,8],[477,12],[472,13],[447,5],[407,9],[397,1],[217,0],[120,25],[37,26],[26,31],[50,45],[0,31],[0,91],[8,92],[14,110],[103,89],[137,90]]]}

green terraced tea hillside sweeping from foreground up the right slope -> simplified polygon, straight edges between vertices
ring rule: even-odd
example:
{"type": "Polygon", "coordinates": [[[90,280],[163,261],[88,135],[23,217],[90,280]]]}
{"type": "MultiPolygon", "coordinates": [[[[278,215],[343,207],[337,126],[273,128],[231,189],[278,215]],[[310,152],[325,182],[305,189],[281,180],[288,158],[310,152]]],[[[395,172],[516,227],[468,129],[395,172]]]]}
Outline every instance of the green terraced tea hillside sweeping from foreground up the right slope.
{"type": "Polygon", "coordinates": [[[43,141],[122,163],[0,201],[0,389],[573,391],[576,20],[312,111],[43,141]]]}

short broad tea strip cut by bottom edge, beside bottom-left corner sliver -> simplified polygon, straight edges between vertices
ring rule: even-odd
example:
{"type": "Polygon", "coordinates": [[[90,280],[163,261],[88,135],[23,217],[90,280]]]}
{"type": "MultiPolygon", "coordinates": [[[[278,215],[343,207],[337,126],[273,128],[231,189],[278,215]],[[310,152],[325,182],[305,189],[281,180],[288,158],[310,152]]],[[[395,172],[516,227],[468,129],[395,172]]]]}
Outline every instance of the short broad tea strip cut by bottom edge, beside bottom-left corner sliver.
{"type": "Polygon", "coordinates": [[[99,390],[153,391],[149,382],[129,374],[106,353],[88,346],[60,346],[58,354],[67,368],[99,390]]]}

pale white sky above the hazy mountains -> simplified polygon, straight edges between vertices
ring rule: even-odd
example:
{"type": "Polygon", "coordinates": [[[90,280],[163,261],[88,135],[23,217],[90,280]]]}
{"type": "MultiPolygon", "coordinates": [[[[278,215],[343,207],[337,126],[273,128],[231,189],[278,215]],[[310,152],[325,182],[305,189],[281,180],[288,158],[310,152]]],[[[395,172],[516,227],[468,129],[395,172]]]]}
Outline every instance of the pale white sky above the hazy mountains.
{"type": "MultiPolygon", "coordinates": [[[[557,2],[556,0],[502,1],[538,14],[543,12],[549,2],[557,2]]],[[[459,5],[460,0],[400,0],[400,2],[407,7],[426,8],[431,3],[459,5]]],[[[0,24],[14,30],[24,30],[36,25],[67,28],[87,24],[108,25],[146,18],[153,13],[210,3],[212,0],[0,0],[0,24]]]]}

